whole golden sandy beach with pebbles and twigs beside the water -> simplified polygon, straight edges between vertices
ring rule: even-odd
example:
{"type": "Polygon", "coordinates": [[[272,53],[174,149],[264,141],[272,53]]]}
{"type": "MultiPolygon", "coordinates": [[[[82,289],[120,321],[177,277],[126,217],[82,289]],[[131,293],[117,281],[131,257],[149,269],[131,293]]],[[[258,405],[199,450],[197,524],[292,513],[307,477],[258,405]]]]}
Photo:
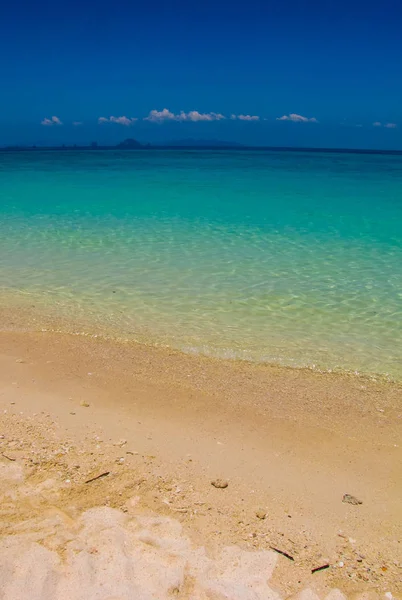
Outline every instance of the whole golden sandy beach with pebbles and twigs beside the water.
{"type": "Polygon", "coordinates": [[[16,330],[0,373],[0,598],[400,597],[400,385],[16,330]]]}

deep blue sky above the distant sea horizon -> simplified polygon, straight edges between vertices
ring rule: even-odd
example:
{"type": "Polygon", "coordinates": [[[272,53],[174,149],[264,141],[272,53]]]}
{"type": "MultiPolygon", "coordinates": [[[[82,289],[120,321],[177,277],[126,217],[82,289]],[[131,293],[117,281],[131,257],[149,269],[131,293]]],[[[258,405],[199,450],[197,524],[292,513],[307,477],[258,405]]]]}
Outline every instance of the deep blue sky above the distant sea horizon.
{"type": "Polygon", "coordinates": [[[401,31],[401,0],[3,3],[0,145],[135,137],[402,149],[401,31]],[[164,108],[228,118],[143,120],[164,108]],[[318,123],[277,120],[290,114],[318,123]],[[63,124],[41,125],[53,116],[63,124]],[[98,124],[110,116],[138,120],[98,124]]]}

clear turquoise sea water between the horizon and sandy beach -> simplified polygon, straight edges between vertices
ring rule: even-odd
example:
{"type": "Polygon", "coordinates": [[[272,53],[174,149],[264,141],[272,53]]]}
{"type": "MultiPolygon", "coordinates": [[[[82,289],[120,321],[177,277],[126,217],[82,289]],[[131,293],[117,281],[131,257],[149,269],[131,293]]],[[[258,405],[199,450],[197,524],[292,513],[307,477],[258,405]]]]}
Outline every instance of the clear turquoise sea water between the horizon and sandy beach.
{"type": "Polygon", "coordinates": [[[99,334],[402,379],[402,158],[0,154],[0,296],[99,334]]]}

